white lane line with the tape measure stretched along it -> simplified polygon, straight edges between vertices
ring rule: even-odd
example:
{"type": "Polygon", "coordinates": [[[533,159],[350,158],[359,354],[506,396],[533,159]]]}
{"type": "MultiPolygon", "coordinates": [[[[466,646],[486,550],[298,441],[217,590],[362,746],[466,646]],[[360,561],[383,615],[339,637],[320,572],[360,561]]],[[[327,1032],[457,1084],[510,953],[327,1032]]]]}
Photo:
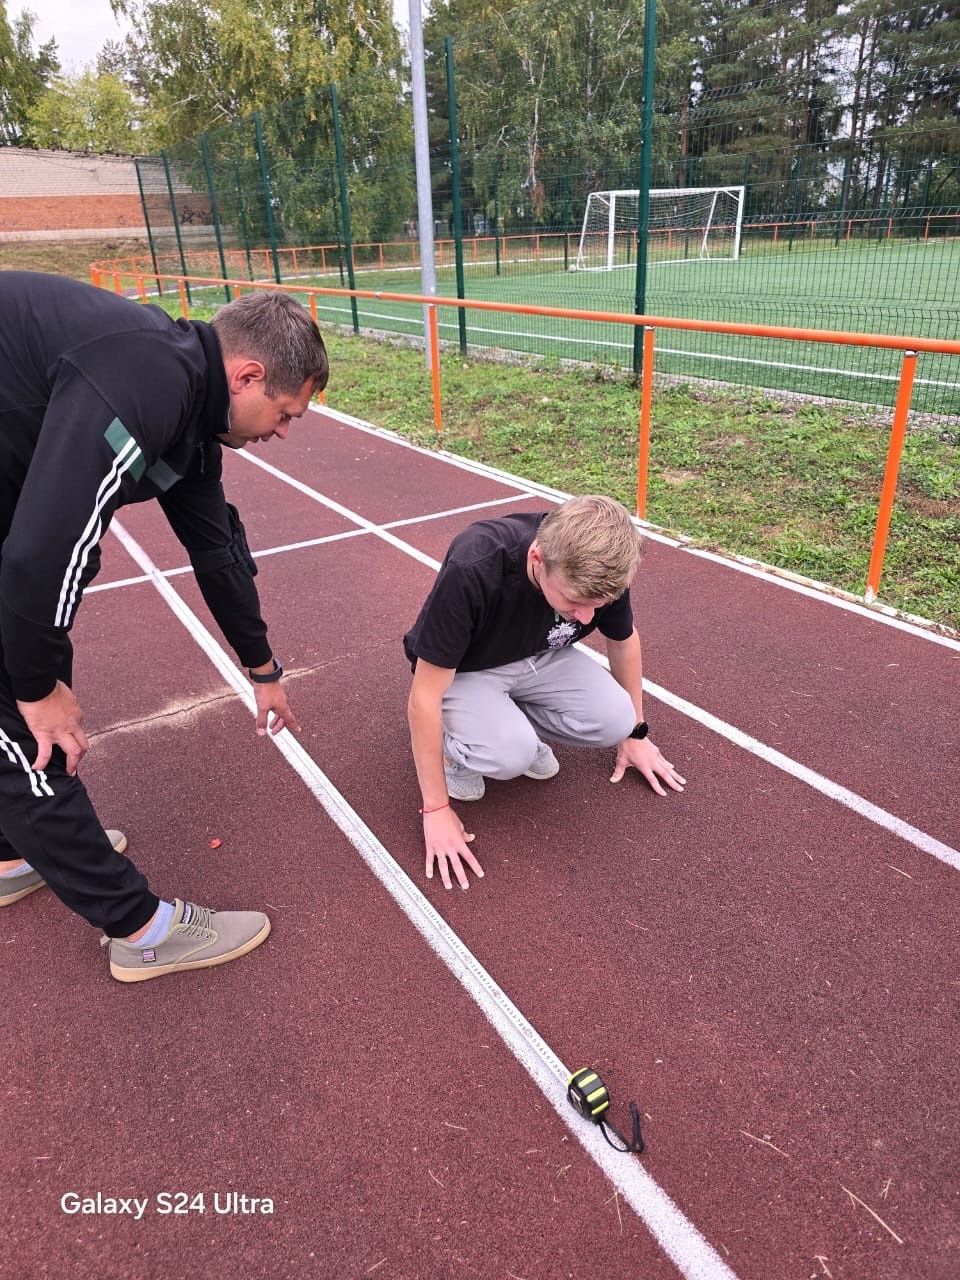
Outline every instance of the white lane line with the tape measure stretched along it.
{"type": "MultiPolygon", "coordinates": [[[[239,695],[247,710],[256,714],[256,701],[250,682],[238,671],[227,652],[180,599],[166,577],[154,566],[146,552],[120,522],[114,520],[110,527],[224,681],[239,695]]],[[[572,1121],[573,1112],[567,1101],[567,1080],[570,1078],[567,1068],[520,1012],[503,988],[494,982],[472,951],[451,929],[433,904],[424,897],[312,756],[287,730],[278,733],[273,742],[287,763],[306,782],[320,805],[349,840],[430,948],[472,996],[520,1065],[535,1080],[563,1124],[645,1222],[650,1234],[673,1261],[685,1280],[736,1280],[735,1272],[635,1157],[613,1151],[596,1126],[586,1121],[572,1121]]]]}

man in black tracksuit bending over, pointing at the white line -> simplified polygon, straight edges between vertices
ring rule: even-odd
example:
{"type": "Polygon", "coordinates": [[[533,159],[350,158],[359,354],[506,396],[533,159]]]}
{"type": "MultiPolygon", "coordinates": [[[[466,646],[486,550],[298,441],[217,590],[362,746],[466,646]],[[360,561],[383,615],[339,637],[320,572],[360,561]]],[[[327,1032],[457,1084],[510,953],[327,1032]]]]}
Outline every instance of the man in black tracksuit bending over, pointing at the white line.
{"type": "Polygon", "coordinates": [[[323,339],[282,293],[207,325],[52,275],[0,273],[0,905],[45,883],[110,938],[136,982],[264,941],[255,911],[157,899],[77,777],[87,749],[69,631],[114,511],[156,498],[257,698],[298,728],[266,639],[221,444],[285,438],[326,383],[323,339]]]}

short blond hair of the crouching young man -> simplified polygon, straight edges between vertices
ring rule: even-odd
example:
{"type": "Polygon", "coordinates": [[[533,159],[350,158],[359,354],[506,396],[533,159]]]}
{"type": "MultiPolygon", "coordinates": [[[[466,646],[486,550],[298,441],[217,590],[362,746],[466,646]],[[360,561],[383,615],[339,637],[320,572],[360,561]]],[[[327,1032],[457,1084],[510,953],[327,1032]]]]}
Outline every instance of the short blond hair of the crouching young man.
{"type": "Polygon", "coordinates": [[[548,512],[536,544],[547,572],[559,573],[585,600],[622,595],[643,552],[627,508],[602,494],[571,498],[548,512]]]}

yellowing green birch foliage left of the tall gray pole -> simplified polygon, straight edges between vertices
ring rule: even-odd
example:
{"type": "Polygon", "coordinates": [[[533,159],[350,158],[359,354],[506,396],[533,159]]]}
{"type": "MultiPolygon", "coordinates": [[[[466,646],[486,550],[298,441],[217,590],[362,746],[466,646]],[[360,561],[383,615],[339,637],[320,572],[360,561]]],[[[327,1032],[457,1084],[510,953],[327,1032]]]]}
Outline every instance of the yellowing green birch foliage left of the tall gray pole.
{"type": "Polygon", "coordinates": [[[124,0],[128,65],[175,180],[247,243],[339,238],[329,87],[340,124],[355,241],[396,236],[415,201],[410,106],[389,0],[124,0]],[[257,148],[262,133],[264,179],[257,148]],[[206,156],[204,155],[206,145],[206,156]],[[209,172],[207,172],[209,166],[209,172]]]}

